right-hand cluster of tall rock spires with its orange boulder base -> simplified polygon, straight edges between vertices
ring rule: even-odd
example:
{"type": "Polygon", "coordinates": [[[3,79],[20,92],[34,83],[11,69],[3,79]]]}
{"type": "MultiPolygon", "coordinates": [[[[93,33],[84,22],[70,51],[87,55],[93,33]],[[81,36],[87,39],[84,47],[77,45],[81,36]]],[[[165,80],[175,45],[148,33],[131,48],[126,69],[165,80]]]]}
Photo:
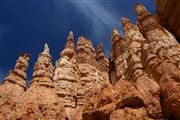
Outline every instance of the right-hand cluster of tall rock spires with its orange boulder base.
{"type": "Polygon", "coordinates": [[[136,13],[138,26],[122,18],[125,38],[113,29],[110,60],[117,82],[91,98],[85,120],[179,119],[179,44],[143,5],[136,5],[136,13]]]}

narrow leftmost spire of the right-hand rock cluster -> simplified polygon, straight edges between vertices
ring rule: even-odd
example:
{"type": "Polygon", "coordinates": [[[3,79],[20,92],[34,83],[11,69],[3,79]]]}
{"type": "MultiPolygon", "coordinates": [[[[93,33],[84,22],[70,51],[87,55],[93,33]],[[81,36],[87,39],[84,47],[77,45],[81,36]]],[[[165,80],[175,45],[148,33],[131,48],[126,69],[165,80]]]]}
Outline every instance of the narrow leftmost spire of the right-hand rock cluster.
{"type": "Polygon", "coordinates": [[[116,71],[116,81],[125,79],[124,72],[127,68],[127,41],[125,41],[119,34],[117,29],[112,30],[112,53],[111,58],[114,61],[116,71]]]}

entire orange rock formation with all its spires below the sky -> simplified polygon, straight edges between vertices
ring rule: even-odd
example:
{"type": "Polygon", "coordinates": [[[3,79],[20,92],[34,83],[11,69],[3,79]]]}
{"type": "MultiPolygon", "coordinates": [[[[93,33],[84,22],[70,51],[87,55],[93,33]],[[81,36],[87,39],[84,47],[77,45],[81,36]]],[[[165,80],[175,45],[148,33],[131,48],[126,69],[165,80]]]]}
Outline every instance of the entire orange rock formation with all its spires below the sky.
{"type": "Polygon", "coordinates": [[[179,11],[174,1],[157,0],[155,16],[136,4],[138,24],[122,17],[124,36],[113,28],[109,59],[102,44],[95,49],[81,36],[75,45],[70,32],[54,67],[46,44],[29,88],[29,55],[21,54],[0,86],[0,119],[180,119],[180,46],[170,28],[178,16],[168,18],[179,11]]]}

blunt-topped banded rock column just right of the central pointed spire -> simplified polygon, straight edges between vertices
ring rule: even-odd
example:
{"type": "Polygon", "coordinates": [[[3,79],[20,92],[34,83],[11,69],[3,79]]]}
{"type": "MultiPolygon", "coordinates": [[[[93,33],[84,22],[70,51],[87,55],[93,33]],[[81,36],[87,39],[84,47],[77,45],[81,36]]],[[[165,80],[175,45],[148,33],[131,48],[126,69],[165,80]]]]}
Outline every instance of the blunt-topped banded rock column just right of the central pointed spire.
{"type": "Polygon", "coordinates": [[[102,90],[105,80],[101,79],[98,74],[95,50],[90,40],[79,37],[76,52],[80,72],[77,105],[84,106],[92,94],[102,90]]]}

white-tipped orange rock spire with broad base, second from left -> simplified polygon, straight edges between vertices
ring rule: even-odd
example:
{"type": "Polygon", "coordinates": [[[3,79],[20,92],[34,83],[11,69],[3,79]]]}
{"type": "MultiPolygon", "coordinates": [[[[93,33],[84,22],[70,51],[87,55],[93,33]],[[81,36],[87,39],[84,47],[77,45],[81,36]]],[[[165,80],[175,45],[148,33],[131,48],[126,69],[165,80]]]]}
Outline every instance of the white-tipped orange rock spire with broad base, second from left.
{"type": "Polygon", "coordinates": [[[65,120],[63,104],[59,101],[53,83],[54,67],[49,48],[39,54],[34,66],[30,88],[19,98],[11,119],[65,120]]]}

